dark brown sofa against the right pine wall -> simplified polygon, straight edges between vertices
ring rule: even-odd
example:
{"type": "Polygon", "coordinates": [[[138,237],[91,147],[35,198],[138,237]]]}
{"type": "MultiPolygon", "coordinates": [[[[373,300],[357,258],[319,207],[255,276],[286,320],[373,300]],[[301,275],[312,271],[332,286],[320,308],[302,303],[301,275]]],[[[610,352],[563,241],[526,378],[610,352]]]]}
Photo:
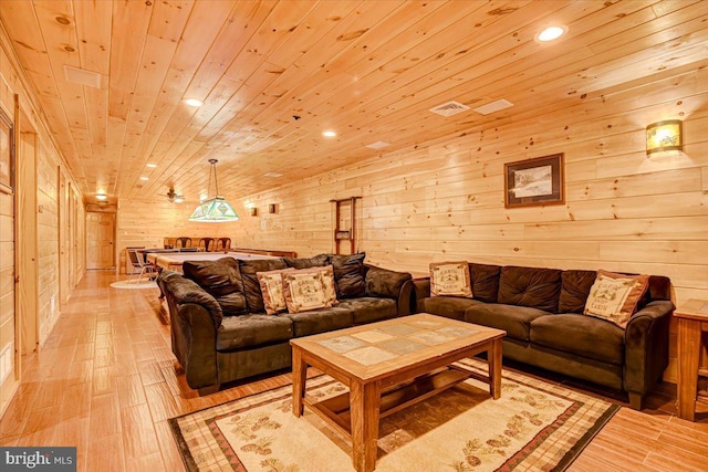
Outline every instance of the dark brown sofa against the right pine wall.
{"type": "Polygon", "coordinates": [[[582,315],[595,271],[469,263],[473,298],[430,296],[429,279],[414,281],[417,312],[504,329],[503,356],[624,390],[634,409],[668,365],[670,282],[649,287],[626,329],[582,315]]]}

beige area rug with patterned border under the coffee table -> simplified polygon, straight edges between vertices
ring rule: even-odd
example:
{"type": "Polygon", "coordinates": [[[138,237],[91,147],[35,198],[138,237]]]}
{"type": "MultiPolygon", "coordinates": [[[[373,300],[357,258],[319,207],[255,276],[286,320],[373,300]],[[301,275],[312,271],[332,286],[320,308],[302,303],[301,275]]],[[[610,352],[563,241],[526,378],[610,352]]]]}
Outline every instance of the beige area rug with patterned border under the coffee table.
{"type": "MultiPolygon", "coordinates": [[[[486,364],[465,360],[486,374],[486,364]]],[[[346,390],[322,375],[308,392],[346,390]]],[[[291,386],[169,420],[188,471],[353,471],[351,443],[305,408],[291,386]]],[[[470,379],[381,421],[377,472],[562,471],[620,406],[504,370],[502,395],[470,379]]]]}

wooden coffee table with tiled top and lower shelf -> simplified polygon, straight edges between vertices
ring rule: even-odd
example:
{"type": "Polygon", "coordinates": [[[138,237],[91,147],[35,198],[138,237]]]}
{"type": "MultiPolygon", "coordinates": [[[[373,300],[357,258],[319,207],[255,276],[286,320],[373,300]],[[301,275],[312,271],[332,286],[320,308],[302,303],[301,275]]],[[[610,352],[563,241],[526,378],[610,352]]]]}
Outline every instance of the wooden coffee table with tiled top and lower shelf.
{"type": "Polygon", "coordinates": [[[421,313],[353,328],[292,339],[292,412],[314,413],[352,439],[360,472],[376,466],[378,420],[470,377],[501,395],[500,329],[421,313]],[[489,376],[478,376],[456,360],[487,352],[489,376]],[[308,366],[348,386],[323,401],[305,396],[308,366]]]}

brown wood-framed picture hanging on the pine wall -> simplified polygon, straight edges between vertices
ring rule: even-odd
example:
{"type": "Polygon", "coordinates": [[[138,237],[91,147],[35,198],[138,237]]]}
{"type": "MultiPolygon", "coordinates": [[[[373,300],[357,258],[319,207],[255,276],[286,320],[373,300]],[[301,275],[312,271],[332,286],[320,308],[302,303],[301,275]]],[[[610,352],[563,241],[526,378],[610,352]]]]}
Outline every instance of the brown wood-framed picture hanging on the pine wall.
{"type": "Polygon", "coordinates": [[[504,208],[565,203],[564,154],[504,164],[504,208]]]}

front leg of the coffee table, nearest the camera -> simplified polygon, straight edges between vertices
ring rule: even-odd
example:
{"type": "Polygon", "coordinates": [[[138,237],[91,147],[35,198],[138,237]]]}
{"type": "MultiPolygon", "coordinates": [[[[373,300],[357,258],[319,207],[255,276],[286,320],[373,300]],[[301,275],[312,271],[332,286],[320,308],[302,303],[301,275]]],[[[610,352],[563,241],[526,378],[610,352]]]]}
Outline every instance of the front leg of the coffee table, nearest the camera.
{"type": "Polygon", "coordinates": [[[357,472],[372,472],[376,468],[376,441],[378,440],[378,382],[350,384],[350,411],[352,413],[352,460],[357,472]]]}

